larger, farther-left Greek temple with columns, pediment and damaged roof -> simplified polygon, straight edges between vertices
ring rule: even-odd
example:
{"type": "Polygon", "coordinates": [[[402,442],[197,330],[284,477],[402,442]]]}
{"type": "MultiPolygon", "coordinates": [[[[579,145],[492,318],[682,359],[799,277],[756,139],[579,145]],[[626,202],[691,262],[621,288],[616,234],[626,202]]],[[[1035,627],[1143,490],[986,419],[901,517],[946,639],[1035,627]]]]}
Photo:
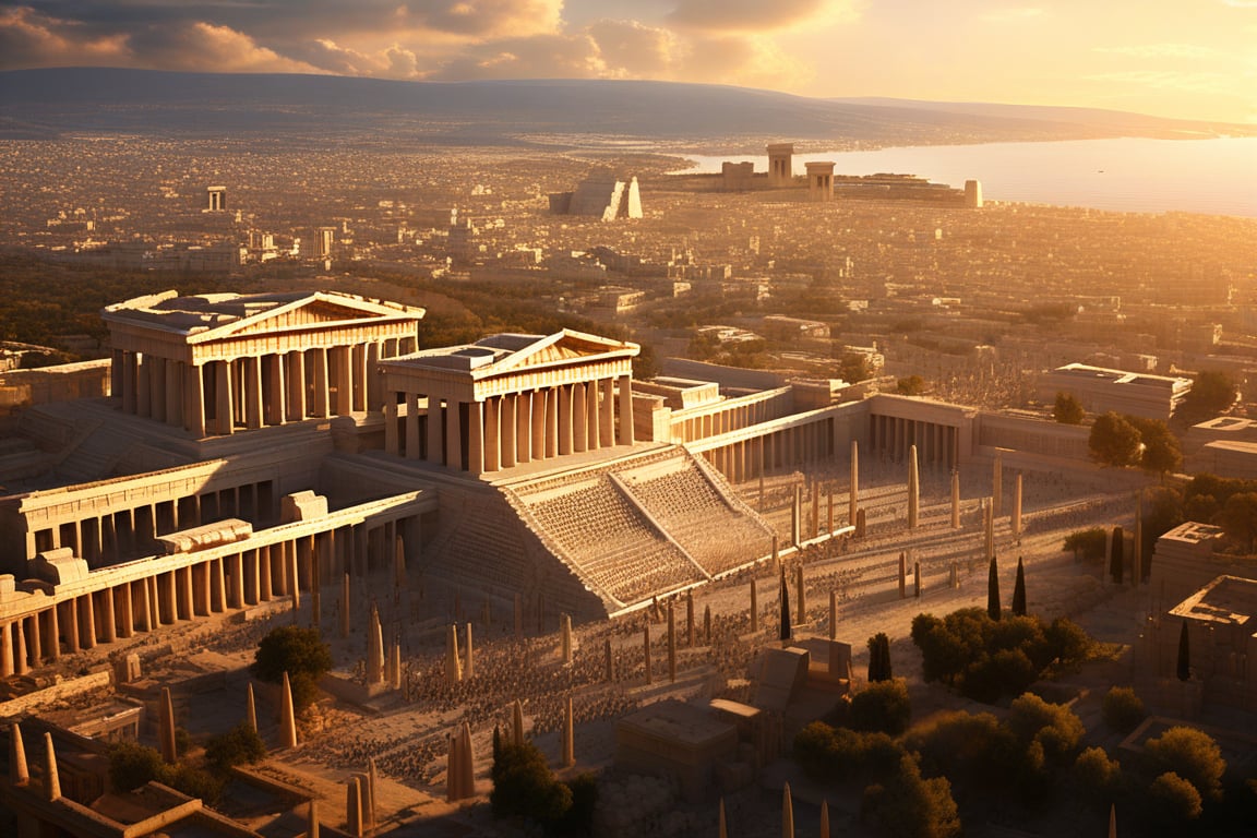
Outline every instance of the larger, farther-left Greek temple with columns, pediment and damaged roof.
{"type": "Polygon", "coordinates": [[[336,291],[165,291],[102,317],[123,412],[200,438],[378,410],[375,367],[415,349],[424,310],[336,291]]]}

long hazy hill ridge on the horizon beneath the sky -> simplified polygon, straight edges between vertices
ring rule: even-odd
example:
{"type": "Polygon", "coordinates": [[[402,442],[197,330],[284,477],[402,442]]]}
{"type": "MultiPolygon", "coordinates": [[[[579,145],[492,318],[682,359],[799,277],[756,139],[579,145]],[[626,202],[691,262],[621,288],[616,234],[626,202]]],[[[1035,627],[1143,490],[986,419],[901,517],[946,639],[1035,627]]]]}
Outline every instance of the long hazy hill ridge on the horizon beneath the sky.
{"type": "Polygon", "coordinates": [[[763,138],[901,144],[1254,131],[1117,111],[816,99],[670,82],[435,83],[99,68],[0,72],[0,137],[13,139],[91,132],[587,146],[627,137],[733,139],[750,147],[763,138]]]}

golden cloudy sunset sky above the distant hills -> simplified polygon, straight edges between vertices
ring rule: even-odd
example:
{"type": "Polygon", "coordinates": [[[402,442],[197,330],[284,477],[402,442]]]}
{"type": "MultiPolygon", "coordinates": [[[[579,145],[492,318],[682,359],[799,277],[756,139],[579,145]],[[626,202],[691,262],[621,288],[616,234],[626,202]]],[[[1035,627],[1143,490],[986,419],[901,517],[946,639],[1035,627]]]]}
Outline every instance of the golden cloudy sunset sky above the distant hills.
{"type": "Polygon", "coordinates": [[[65,65],[646,78],[1257,123],[1257,0],[0,3],[0,68],[65,65]]]}

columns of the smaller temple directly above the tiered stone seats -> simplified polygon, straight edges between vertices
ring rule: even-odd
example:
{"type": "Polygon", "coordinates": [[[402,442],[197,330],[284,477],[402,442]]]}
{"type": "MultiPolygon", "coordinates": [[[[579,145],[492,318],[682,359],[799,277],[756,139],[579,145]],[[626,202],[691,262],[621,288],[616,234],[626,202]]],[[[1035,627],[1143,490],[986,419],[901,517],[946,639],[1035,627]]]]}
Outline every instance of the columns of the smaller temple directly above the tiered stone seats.
{"type": "Polygon", "coordinates": [[[632,442],[628,376],[473,402],[393,393],[385,403],[388,454],[471,474],[632,442]]]}

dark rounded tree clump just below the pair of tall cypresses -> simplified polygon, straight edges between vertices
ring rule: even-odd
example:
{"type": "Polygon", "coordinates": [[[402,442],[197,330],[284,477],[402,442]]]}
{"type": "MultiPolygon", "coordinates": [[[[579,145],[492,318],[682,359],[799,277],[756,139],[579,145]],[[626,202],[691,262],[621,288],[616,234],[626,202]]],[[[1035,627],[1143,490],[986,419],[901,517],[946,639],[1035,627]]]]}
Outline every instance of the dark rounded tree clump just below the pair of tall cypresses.
{"type": "Polygon", "coordinates": [[[943,619],[918,614],[911,636],[926,681],[985,704],[1021,695],[1050,665],[1077,663],[1094,647],[1086,632],[1063,617],[1050,626],[1033,614],[996,621],[982,608],[962,608],[943,619]]]}

